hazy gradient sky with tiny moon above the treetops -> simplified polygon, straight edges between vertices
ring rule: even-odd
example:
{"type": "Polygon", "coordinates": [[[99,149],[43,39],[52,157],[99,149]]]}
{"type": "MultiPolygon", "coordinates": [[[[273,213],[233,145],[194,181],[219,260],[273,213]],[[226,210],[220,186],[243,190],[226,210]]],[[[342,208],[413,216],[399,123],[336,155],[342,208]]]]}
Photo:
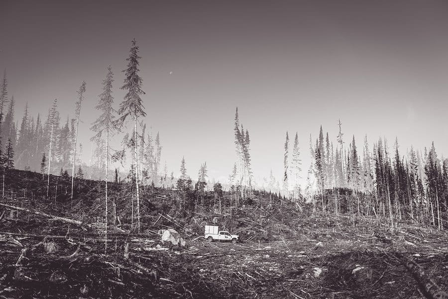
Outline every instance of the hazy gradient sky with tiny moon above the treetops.
{"type": "MultiPolygon", "coordinates": [[[[160,133],[162,164],[224,182],[235,162],[238,106],[249,130],[255,180],[280,179],[286,131],[298,132],[303,177],[309,138],[398,137],[447,153],[448,1],[21,1],[1,0],[0,69],[16,100],[46,117],[54,99],[73,117],[81,82],[84,160],[108,65],[121,72],[140,47],[145,122],[160,133]],[[170,72],[172,72],[170,74],[170,72]]],[[[115,141],[119,139],[114,137],[115,141]]],[[[336,145],[336,144],[335,144],[336,145]]]]}

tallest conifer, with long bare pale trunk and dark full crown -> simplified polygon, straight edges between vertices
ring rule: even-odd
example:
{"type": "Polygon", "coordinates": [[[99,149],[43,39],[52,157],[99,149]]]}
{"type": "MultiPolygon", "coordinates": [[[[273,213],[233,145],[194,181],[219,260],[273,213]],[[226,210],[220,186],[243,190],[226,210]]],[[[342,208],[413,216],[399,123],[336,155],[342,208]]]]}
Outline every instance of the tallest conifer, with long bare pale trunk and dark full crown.
{"type": "MultiPolygon", "coordinates": [[[[135,39],[132,40],[132,47],[130,49],[129,57],[126,58],[128,61],[127,68],[124,70],[125,79],[124,84],[121,87],[122,90],[127,91],[124,96],[124,100],[120,103],[120,107],[118,109],[118,114],[120,117],[117,120],[117,123],[122,126],[124,121],[128,116],[133,117],[134,122],[134,163],[135,167],[138,167],[138,148],[137,148],[137,121],[139,117],[145,117],[146,112],[144,111],[144,106],[142,100],[140,98],[141,95],[145,93],[142,90],[142,79],[138,75],[140,71],[138,69],[138,60],[141,57],[138,56],[138,46],[135,39]]],[[[135,171],[136,180],[135,180],[135,193],[137,198],[137,231],[140,232],[140,197],[139,197],[139,188],[138,188],[138,169],[135,171]]]]}

